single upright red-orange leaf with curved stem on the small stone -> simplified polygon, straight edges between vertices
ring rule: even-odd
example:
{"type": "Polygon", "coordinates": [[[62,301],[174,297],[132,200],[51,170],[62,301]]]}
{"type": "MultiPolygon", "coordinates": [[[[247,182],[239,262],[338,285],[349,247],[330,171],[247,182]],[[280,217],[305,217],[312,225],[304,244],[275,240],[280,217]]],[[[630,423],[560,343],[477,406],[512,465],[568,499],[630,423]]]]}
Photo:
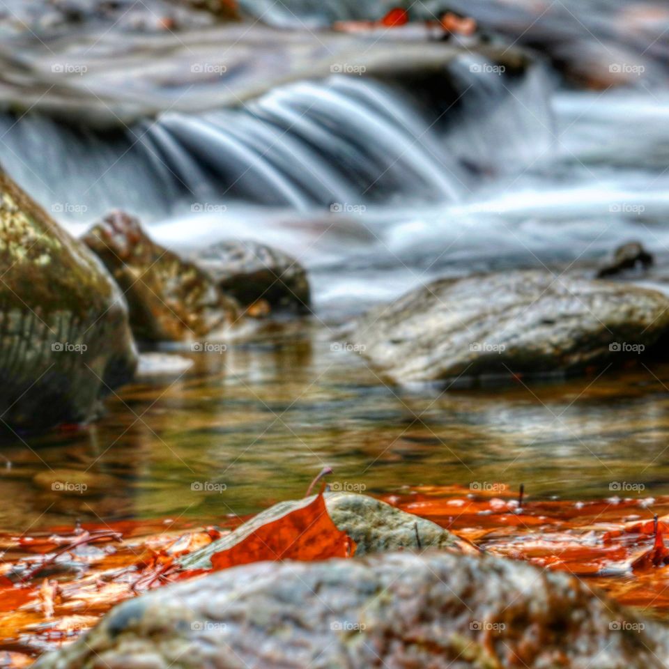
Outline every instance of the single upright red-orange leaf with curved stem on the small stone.
{"type": "Polygon", "coordinates": [[[306,507],[262,525],[236,546],[215,553],[214,569],[261,560],[327,560],[349,557],[355,542],[341,532],[328,515],[323,495],[306,507]]]}

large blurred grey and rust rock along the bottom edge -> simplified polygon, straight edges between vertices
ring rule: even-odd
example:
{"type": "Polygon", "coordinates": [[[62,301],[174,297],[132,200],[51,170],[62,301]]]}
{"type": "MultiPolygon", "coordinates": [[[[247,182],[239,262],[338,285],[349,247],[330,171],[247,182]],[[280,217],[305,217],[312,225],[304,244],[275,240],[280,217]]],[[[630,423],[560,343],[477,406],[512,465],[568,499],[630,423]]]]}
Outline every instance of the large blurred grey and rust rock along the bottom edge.
{"type": "Polygon", "coordinates": [[[573,576],[448,551],[260,562],[117,606],[36,669],[659,669],[666,631],[573,576]]]}

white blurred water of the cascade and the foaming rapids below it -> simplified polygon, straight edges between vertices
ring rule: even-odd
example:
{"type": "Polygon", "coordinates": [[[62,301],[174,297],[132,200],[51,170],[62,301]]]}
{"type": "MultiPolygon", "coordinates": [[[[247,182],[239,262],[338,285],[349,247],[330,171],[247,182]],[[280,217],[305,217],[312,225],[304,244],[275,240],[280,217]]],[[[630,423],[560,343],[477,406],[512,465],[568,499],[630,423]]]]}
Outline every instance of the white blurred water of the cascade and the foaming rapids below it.
{"type": "Polygon", "coordinates": [[[10,171],[75,232],[111,208],[177,250],[255,238],[312,272],[323,314],[505,263],[630,238],[669,249],[669,96],[568,93],[454,66],[457,105],[331,77],[243,109],[166,114],[114,137],[3,118],[10,171]]]}

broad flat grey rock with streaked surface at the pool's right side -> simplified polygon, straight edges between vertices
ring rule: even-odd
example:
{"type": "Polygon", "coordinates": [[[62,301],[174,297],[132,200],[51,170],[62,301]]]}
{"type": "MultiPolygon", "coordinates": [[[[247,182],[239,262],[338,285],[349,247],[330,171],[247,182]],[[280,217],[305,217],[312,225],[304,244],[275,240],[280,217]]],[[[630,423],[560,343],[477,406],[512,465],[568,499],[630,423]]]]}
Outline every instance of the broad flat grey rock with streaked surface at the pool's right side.
{"type": "Polygon", "coordinates": [[[577,371],[638,357],[669,328],[656,291],[541,271],[442,279],[360,318],[355,350],[398,382],[577,371]]]}

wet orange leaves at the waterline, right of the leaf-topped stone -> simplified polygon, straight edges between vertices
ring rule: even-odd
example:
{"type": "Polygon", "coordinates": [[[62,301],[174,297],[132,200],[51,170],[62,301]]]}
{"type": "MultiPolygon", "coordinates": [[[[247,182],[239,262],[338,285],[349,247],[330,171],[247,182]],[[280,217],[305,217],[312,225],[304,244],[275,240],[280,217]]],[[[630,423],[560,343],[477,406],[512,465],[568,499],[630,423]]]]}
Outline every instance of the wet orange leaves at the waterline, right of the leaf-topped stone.
{"type": "Polygon", "coordinates": [[[535,501],[489,488],[423,486],[383,499],[483,551],[568,571],[621,603],[669,615],[669,497],[535,501]]]}

